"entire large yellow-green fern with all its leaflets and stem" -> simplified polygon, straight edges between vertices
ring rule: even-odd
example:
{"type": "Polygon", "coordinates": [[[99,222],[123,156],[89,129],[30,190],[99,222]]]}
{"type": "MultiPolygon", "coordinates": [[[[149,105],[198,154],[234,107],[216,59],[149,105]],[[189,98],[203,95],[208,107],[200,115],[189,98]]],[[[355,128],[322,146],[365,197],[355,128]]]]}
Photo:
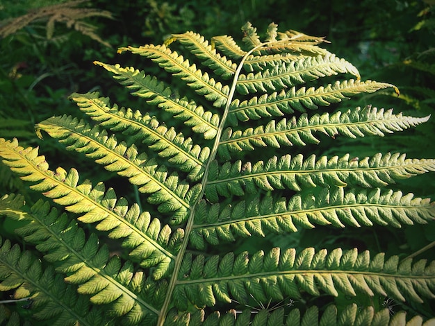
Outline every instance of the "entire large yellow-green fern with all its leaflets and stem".
{"type": "Polygon", "coordinates": [[[241,45],[188,32],[163,45],[122,48],[181,82],[95,62],[142,98],[143,108],[121,108],[96,92],[72,94],[88,119],[64,115],[38,124],[38,132],[127,178],[138,203],[103,182],[81,180],[74,168],[51,170],[38,148],[1,139],[3,162],[52,202],[27,207],[14,194],[0,200],[4,218],[22,221],[15,230],[22,240],[3,239],[0,248],[0,289],[10,295],[0,305],[2,320],[422,325],[427,316],[391,316],[375,298],[418,311],[435,296],[433,262],[357,248],[239,250],[246,239],[261,243],[274,234],[400,228],[435,217],[429,199],[387,187],[434,171],[435,160],[325,157],[308,146],[325,136],[384,136],[429,117],[371,106],[329,112],[331,103],[356,94],[398,91],[360,80],[350,62],[319,46],[320,37],[279,33],[274,24],[265,40],[249,23],[243,33],[241,45]],[[125,253],[109,250],[105,237],[125,253]],[[336,299],[323,307],[312,300],[320,296],[336,299]],[[340,303],[353,297],[363,303],[340,303]],[[8,314],[19,300],[31,304],[22,316],[8,314]]]}

